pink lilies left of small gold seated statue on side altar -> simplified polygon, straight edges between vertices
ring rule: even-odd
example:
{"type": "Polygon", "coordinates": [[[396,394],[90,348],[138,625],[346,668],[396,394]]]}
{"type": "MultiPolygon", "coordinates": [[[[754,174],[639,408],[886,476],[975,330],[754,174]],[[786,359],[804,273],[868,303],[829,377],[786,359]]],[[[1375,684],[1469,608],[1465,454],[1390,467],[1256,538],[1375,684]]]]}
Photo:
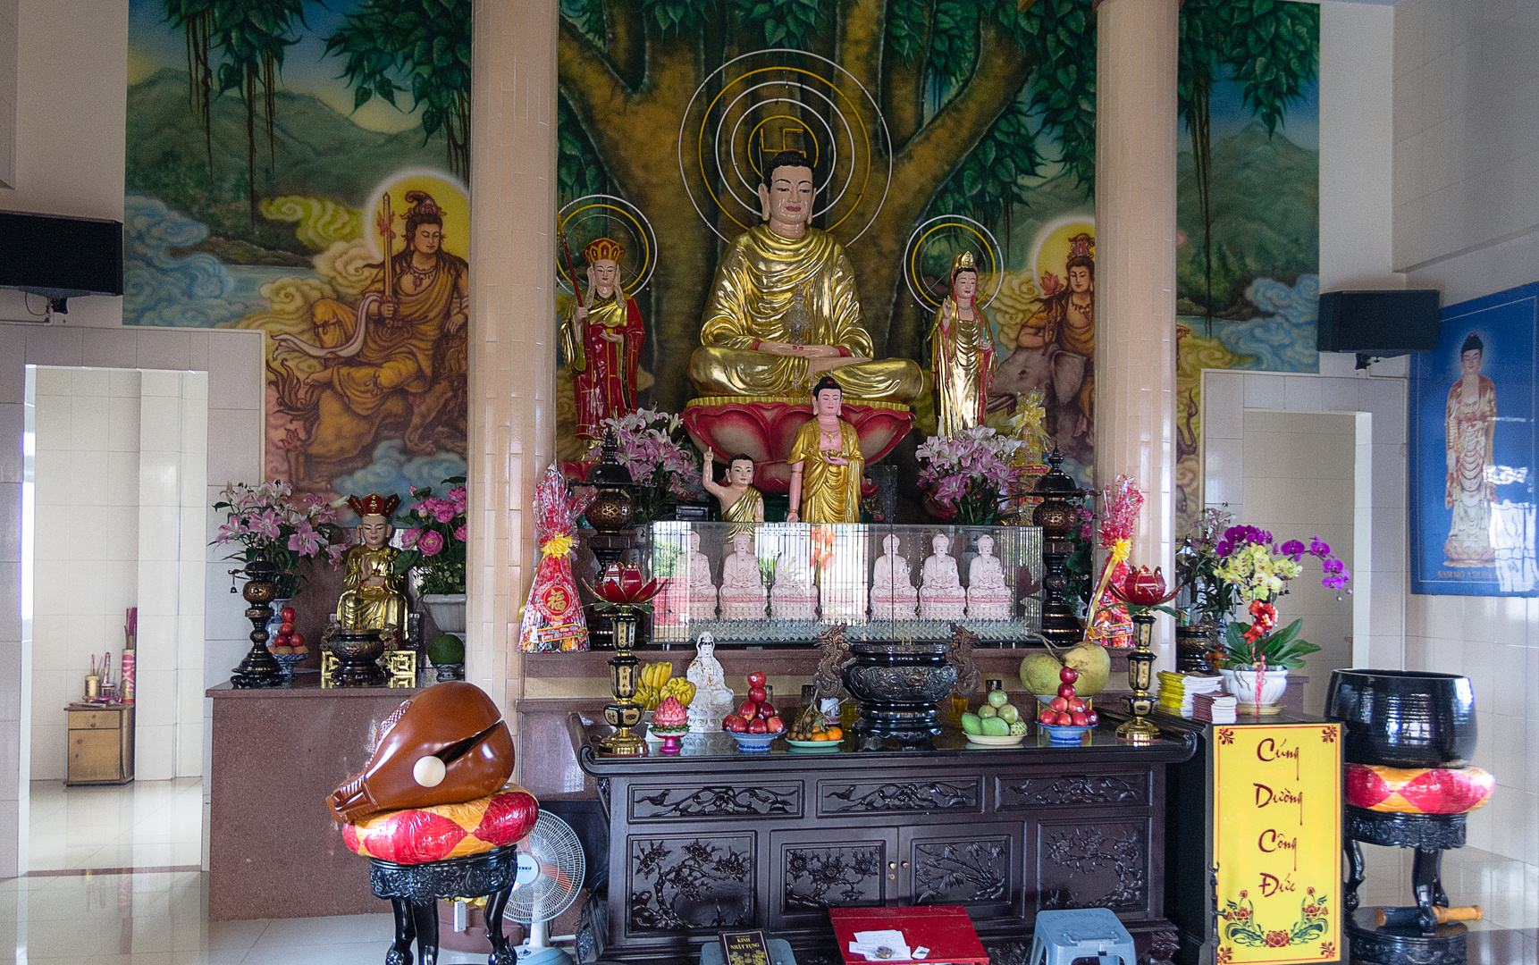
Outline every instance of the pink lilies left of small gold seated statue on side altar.
{"type": "Polygon", "coordinates": [[[337,511],[311,493],[295,499],[282,479],[257,486],[226,483],[214,508],[225,511],[225,523],[211,545],[231,548],[225,559],[277,566],[277,600],[299,596],[322,556],[336,565],[348,548],[337,511]]]}

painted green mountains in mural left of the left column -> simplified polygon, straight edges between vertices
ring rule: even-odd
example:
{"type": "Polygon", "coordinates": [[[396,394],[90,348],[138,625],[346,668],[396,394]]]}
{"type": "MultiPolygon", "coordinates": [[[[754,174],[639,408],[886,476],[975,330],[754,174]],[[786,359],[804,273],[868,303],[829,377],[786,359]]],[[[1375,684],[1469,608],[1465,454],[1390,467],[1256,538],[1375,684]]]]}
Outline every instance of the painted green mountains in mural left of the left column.
{"type": "MultiPolygon", "coordinates": [[[[214,237],[206,245],[226,262],[309,265],[311,251],[295,239],[292,225],[257,215],[252,226],[246,211],[246,111],[239,97],[212,102],[212,175],[203,128],[188,106],[185,72],[160,71],[129,86],[128,115],[129,194],[159,197],[208,225],[214,237]]],[[[383,177],[411,166],[442,168],[443,154],[442,132],[423,143],[420,128],[369,131],[308,94],[282,91],[275,97],[274,152],[268,154],[265,139],[257,149],[257,195],[332,197],[362,208],[383,177]]]]}

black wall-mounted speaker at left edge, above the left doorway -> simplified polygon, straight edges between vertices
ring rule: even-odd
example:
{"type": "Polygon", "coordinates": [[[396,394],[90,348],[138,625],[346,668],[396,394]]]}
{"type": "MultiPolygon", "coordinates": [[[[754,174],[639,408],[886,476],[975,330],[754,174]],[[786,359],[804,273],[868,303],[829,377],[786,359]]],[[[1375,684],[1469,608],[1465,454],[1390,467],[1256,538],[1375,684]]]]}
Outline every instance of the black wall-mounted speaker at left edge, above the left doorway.
{"type": "Polygon", "coordinates": [[[45,299],[123,294],[123,225],[0,211],[0,288],[45,299]]]}

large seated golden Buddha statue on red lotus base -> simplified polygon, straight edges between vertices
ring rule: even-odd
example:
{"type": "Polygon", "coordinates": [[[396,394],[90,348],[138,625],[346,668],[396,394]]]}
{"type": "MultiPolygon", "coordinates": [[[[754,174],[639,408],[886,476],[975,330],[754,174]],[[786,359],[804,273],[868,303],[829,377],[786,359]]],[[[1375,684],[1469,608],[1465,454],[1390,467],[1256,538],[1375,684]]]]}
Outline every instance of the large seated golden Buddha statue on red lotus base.
{"type": "Polygon", "coordinates": [[[800,151],[765,162],[765,225],[726,249],[700,320],[689,380],[702,396],[802,396],[830,371],[856,399],[913,402],[923,374],[908,359],[873,359],[845,249],[808,226],[813,168],[800,151]]]}

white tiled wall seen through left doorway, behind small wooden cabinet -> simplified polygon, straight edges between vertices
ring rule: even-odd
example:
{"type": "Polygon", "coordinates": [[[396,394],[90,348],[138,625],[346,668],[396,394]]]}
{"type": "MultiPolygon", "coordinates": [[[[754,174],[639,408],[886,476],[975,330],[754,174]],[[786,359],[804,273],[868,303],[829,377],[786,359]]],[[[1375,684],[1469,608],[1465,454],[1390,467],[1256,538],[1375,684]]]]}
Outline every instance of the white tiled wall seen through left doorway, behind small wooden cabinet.
{"type": "Polygon", "coordinates": [[[197,776],[208,374],[37,366],[34,385],[31,777],[65,776],[60,708],[78,699],[92,656],[120,660],[128,606],[139,606],[135,773],[197,776]]]}

